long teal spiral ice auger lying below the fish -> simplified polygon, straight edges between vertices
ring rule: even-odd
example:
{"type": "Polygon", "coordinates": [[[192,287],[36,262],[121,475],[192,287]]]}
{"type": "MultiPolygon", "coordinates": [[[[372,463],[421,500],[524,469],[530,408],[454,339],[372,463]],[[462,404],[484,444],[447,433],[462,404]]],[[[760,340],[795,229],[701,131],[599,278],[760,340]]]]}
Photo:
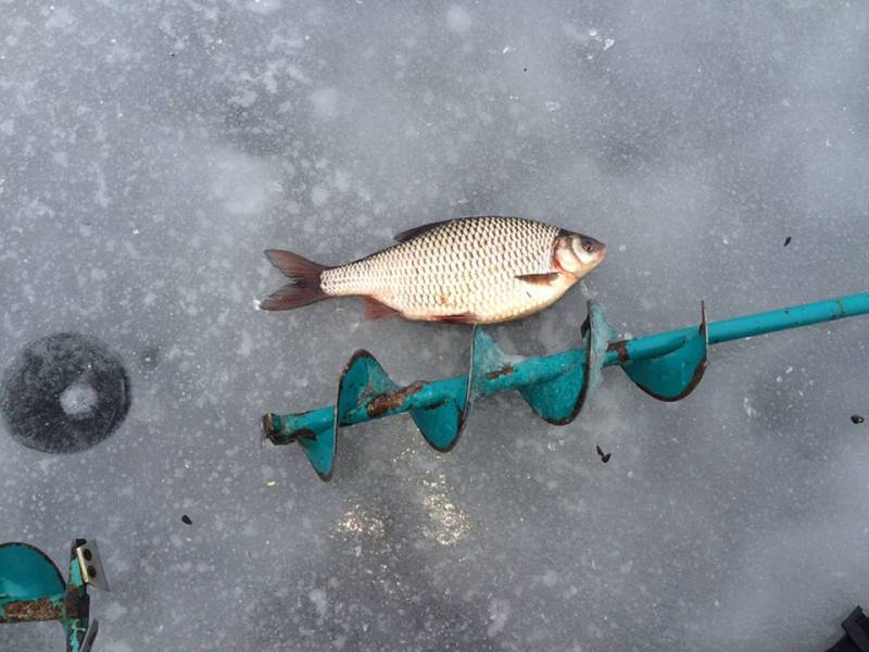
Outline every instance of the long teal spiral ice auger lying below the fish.
{"type": "Polygon", "coordinates": [[[625,340],[589,301],[582,346],[543,358],[504,354],[481,327],[475,327],[470,371],[465,377],[399,387],[367,351],[357,351],[338,383],[335,408],[263,416],[263,437],[274,444],[298,442],[324,480],[335,472],[340,428],[410,412],[426,441],[438,451],[455,447],[474,400],[516,389],[540,417],[570,423],[603,379],[618,365],[643,391],[663,401],[685,398],[703,377],[709,346],[869,313],[869,292],[725,319],[701,322],[625,340]]]}

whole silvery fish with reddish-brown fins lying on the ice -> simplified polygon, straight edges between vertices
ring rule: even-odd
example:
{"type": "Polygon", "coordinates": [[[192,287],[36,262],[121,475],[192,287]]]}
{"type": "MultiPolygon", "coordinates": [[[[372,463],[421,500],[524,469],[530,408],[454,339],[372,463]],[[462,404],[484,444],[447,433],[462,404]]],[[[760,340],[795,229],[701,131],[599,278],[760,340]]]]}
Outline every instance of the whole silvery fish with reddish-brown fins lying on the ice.
{"type": "Polygon", "coordinates": [[[592,237],[525,217],[474,216],[425,224],[339,266],[268,249],[290,283],[260,303],[284,311],[331,297],[361,297],[365,317],[495,324],[537,313],[606,256],[592,237]]]}

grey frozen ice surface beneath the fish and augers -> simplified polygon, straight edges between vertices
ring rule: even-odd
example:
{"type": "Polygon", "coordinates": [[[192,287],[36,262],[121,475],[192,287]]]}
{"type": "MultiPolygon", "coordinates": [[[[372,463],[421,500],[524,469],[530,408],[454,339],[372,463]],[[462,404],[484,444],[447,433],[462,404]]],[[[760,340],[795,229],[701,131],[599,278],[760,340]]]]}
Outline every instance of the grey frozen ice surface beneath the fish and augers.
{"type": "MultiPolygon", "coordinates": [[[[133,403],[74,455],[0,431],[0,540],[98,538],[105,652],[826,649],[869,603],[866,319],[716,347],[677,404],[618,369],[562,428],[482,400],[449,455],[355,427],[330,485],[257,446],[356,348],[407,383],[469,346],[257,312],[267,247],[540,217],[609,244],[583,286],[632,334],[866,290],[869,10],[730,7],[4,3],[0,361],[92,335],[133,403]]],[[[492,333],[561,350],[582,303],[492,333]]]]}

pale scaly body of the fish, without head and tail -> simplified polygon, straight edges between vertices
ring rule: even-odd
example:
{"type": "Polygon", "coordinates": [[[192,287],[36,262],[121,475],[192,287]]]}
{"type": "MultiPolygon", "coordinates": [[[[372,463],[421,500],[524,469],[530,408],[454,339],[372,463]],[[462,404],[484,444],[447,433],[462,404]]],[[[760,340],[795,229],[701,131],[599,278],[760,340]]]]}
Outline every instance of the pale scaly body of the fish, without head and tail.
{"type": "MultiPolygon", "coordinates": [[[[480,322],[538,310],[550,297],[517,277],[553,272],[554,226],[520,217],[443,223],[360,261],[327,269],[323,291],[367,294],[413,318],[473,313],[480,322]]],[[[556,297],[557,298],[557,297],[556,297]]]]}

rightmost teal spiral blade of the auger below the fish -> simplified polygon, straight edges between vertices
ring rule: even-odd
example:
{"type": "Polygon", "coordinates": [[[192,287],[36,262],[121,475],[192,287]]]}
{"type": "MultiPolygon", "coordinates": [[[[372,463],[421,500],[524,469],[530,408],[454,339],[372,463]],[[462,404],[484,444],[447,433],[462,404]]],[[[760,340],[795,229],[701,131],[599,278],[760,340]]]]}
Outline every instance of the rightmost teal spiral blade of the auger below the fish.
{"type": "Polygon", "coordinates": [[[703,378],[709,343],[705,304],[702,304],[701,313],[700,327],[677,349],[622,365],[628,377],[648,396],[659,401],[678,401],[694,391],[703,378]]]}

